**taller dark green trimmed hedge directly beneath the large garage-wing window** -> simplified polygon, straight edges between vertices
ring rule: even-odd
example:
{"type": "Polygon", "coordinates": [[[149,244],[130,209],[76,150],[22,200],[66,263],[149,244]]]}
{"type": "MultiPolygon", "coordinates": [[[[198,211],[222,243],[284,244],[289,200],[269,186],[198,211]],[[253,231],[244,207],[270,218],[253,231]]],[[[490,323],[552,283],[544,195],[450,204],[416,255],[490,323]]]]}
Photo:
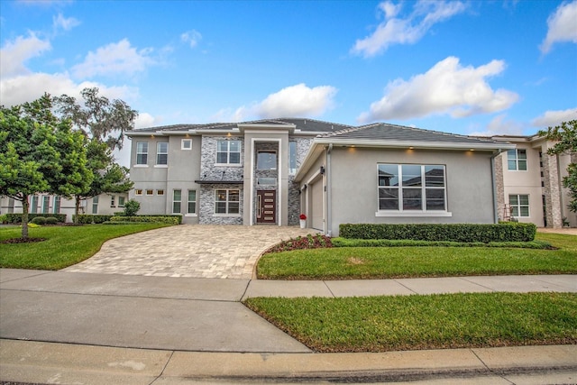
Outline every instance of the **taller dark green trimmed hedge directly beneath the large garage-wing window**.
{"type": "Polygon", "coordinates": [[[342,224],[340,236],[351,239],[407,239],[451,242],[530,242],[535,239],[534,224],[510,222],[498,225],[473,224],[342,224]]]}

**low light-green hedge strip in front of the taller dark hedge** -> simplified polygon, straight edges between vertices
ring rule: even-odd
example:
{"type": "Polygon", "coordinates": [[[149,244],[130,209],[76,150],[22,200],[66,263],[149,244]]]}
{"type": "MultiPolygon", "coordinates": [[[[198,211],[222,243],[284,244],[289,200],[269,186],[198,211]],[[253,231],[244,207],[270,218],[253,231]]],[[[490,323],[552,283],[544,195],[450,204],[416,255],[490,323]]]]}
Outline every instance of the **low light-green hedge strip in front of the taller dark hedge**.
{"type": "Polygon", "coordinates": [[[412,241],[408,239],[350,239],[333,238],[334,247],[510,247],[515,249],[552,250],[551,243],[544,241],[531,242],[451,242],[451,241],[412,241]]]}

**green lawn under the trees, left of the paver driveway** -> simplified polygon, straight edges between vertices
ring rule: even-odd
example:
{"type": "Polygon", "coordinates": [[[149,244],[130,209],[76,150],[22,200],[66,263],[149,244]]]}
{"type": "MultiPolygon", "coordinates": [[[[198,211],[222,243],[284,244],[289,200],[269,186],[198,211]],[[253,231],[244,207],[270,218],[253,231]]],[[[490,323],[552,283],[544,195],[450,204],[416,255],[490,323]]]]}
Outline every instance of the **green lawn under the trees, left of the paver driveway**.
{"type": "MultiPolygon", "coordinates": [[[[30,228],[29,237],[46,238],[37,243],[0,243],[0,267],[10,269],[60,270],[84,261],[100,250],[105,241],[166,225],[81,225],[30,228]]],[[[0,229],[0,242],[21,236],[20,227],[0,229]]]]}

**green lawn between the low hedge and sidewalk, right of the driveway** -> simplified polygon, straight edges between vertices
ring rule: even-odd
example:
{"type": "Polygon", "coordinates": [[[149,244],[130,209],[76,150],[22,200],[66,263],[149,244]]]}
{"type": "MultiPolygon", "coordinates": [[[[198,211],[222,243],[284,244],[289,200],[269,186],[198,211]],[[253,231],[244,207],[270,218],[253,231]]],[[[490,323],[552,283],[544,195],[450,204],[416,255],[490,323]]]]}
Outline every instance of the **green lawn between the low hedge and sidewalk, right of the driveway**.
{"type": "Polygon", "coordinates": [[[577,236],[538,234],[559,250],[497,247],[338,247],[264,255],[264,280],[353,280],[577,273],[577,236]]]}

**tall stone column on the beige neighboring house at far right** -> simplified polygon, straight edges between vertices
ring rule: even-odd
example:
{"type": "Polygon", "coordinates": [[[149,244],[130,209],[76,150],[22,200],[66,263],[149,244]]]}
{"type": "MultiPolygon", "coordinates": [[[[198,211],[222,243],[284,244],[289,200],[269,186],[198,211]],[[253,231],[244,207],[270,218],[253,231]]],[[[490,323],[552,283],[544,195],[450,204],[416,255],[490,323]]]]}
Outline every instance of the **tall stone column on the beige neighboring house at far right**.
{"type": "Polygon", "coordinates": [[[545,187],[545,215],[547,218],[547,227],[563,227],[563,218],[561,210],[561,185],[559,180],[559,165],[556,155],[547,154],[547,145],[544,144],[543,152],[543,171],[545,187]]]}

